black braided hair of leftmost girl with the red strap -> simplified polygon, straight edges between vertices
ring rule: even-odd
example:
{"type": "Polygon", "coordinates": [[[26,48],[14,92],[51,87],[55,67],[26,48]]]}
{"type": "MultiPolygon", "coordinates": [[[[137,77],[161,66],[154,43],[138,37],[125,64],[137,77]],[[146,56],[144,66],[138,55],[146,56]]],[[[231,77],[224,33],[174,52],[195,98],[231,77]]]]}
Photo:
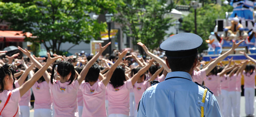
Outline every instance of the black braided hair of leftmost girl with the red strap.
{"type": "MultiPolygon", "coordinates": [[[[1,68],[0,68],[0,85],[1,85],[1,87],[0,87],[0,93],[2,93],[3,92],[3,90],[4,90],[4,77],[6,76],[6,75],[11,75],[12,74],[12,72],[9,70],[9,67],[10,67],[10,65],[8,65],[8,64],[4,64],[4,66],[2,66],[1,68]]],[[[13,83],[13,86],[14,86],[14,83],[13,83]]],[[[15,86],[14,86],[14,88],[15,88],[15,86]]]]}

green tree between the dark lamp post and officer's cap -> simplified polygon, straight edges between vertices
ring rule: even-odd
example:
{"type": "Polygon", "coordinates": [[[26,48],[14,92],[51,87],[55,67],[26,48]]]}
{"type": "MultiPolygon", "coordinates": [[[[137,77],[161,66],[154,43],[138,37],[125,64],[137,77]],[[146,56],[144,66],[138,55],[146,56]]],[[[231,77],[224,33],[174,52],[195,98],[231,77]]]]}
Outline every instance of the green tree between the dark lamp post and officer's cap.
{"type": "Polygon", "coordinates": [[[123,0],[117,3],[118,14],[115,21],[122,31],[132,38],[133,44],[144,43],[153,49],[166,35],[165,30],[172,25],[171,16],[166,15],[174,8],[166,0],[123,0]]]}

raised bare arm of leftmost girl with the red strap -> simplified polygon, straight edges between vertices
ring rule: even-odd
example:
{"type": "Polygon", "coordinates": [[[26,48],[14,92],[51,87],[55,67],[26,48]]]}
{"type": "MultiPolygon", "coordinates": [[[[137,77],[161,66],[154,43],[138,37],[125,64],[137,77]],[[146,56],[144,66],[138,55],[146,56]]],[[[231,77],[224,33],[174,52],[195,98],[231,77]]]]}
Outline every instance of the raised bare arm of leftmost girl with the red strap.
{"type": "Polygon", "coordinates": [[[40,68],[31,79],[29,79],[27,82],[25,82],[23,85],[19,87],[19,93],[20,97],[22,97],[35,83],[40,79],[40,77],[43,75],[43,73],[47,70],[47,68],[58,58],[62,58],[62,56],[51,58],[50,54],[47,53],[48,59],[46,64],[40,68]]]}

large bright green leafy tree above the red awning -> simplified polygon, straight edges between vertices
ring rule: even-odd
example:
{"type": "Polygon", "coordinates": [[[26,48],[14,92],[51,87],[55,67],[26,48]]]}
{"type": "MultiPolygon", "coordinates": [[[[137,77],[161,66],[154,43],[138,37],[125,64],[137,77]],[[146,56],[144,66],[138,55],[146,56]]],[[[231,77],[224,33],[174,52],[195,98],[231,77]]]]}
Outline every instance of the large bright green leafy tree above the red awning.
{"type": "Polygon", "coordinates": [[[100,37],[106,23],[91,18],[92,13],[115,12],[114,0],[22,0],[20,3],[0,2],[0,19],[10,22],[12,30],[30,32],[37,38],[25,40],[42,43],[54,53],[65,42],[89,43],[100,37]],[[47,46],[46,42],[50,43],[47,46]]]}

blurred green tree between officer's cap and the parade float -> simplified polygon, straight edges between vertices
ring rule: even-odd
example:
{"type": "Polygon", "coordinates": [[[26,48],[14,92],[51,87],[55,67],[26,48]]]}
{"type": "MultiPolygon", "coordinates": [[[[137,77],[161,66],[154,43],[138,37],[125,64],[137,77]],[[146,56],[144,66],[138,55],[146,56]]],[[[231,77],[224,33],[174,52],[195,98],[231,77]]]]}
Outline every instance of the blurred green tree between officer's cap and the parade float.
{"type": "MultiPolygon", "coordinates": [[[[203,45],[198,48],[199,52],[207,49],[208,37],[213,32],[216,19],[225,19],[225,12],[231,12],[233,7],[230,5],[220,6],[219,4],[205,4],[204,7],[197,9],[197,34],[202,37],[203,45]]],[[[195,33],[195,12],[190,8],[191,14],[183,18],[181,29],[185,32],[195,33]]]]}

